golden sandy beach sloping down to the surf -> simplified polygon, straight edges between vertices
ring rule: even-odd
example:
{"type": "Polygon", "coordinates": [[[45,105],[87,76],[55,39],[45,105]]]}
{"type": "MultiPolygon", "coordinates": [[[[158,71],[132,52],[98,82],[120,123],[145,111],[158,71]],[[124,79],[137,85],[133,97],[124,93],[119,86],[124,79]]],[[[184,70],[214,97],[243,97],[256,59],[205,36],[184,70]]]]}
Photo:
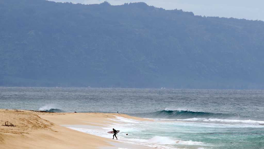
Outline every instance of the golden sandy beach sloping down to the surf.
{"type": "Polygon", "coordinates": [[[112,141],[103,137],[75,131],[62,125],[104,125],[112,123],[107,118],[125,114],[110,113],[43,113],[28,110],[0,109],[1,149],[90,149],[90,148],[149,148],[112,141]],[[6,121],[15,127],[2,126],[6,121]]]}

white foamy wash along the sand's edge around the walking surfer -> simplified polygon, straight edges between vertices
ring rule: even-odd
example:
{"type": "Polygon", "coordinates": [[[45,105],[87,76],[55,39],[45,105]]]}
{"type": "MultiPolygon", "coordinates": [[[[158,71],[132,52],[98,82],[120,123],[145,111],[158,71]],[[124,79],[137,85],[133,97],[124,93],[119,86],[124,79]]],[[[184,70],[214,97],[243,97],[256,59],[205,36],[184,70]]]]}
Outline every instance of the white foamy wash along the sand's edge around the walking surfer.
{"type": "MultiPolygon", "coordinates": [[[[159,126],[159,124],[164,124],[164,122],[141,122],[134,119],[128,119],[124,117],[118,117],[116,116],[115,119],[110,119],[115,122],[119,123],[113,123],[113,124],[107,124],[107,127],[103,127],[101,130],[97,129],[82,129],[82,128],[70,128],[77,131],[93,134],[96,136],[101,136],[105,138],[111,138],[112,134],[108,134],[107,131],[112,130],[112,128],[115,128],[116,130],[120,130],[120,134],[117,136],[118,140],[121,142],[136,144],[136,145],[144,145],[154,148],[170,148],[175,149],[176,145],[205,145],[203,142],[196,142],[191,140],[180,140],[177,138],[171,138],[168,136],[154,136],[154,137],[133,137],[132,136],[126,136],[125,134],[134,134],[137,136],[137,134],[141,134],[142,131],[146,131],[147,129],[150,129],[149,132],[153,131],[154,126],[159,126]],[[149,128],[149,126],[152,126],[149,128]]],[[[170,124],[173,124],[174,122],[170,122],[170,124]]],[[[183,122],[182,122],[183,123],[183,122]]],[[[184,122],[187,123],[187,122],[184,122]]],[[[159,127],[157,129],[160,129],[159,127]]],[[[144,133],[143,133],[144,135],[144,133]]],[[[148,136],[148,135],[147,135],[148,136]]]]}

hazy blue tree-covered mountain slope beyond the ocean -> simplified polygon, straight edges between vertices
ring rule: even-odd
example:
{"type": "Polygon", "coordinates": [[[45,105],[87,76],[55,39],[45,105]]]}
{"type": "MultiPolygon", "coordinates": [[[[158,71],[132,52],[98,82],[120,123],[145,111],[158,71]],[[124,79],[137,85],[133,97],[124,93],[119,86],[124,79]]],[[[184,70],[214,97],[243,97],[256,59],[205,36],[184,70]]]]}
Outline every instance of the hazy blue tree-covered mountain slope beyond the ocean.
{"type": "Polygon", "coordinates": [[[264,22],[0,1],[0,86],[264,88],[264,22]]]}

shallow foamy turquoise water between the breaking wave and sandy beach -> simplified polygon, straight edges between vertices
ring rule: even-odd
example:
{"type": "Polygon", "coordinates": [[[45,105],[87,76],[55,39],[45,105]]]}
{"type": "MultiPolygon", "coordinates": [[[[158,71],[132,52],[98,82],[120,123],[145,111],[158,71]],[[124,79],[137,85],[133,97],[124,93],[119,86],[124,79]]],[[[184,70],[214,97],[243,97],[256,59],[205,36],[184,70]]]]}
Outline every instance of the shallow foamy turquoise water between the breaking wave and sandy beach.
{"type": "MultiPolygon", "coordinates": [[[[264,148],[264,126],[257,123],[211,123],[189,120],[142,122],[117,117],[116,122],[100,129],[78,131],[111,138],[112,128],[120,130],[119,141],[154,148],[264,148]],[[126,133],[129,135],[126,136],[126,133]]],[[[262,121],[262,123],[264,123],[262,121]]]]}

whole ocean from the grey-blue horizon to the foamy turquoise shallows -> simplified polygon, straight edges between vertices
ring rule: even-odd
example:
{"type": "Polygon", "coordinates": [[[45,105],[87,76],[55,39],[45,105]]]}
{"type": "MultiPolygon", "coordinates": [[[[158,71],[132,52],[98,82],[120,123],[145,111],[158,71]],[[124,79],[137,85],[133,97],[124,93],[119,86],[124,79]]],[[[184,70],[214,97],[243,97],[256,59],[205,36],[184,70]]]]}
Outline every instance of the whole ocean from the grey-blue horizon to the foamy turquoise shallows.
{"type": "Polygon", "coordinates": [[[116,128],[120,141],[155,148],[264,148],[264,90],[0,87],[0,108],[153,119],[72,129],[109,137],[116,128]]]}

